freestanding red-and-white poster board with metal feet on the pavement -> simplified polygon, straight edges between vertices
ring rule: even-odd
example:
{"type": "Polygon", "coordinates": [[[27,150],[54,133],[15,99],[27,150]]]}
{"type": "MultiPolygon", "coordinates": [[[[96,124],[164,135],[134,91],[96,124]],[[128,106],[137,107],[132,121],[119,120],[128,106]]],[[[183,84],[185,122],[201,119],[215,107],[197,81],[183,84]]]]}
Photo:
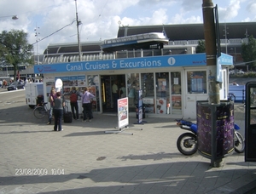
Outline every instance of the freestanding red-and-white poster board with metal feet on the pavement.
{"type": "MultiPolygon", "coordinates": [[[[133,128],[133,127],[128,127],[129,124],[129,109],[128,109],[128,98],[123,98],[118,100],[118,120],[119,120],[119,126],[115,128],[119,128],[119,130],[115,131],[105,131],[105,134],[131,134],[132,133],[127,133],[125,132],[126,129],[128,128],[133,128]]],[[[143,130],[143,128],[135,128],[135,129],[140,129],[143,130]]]]}

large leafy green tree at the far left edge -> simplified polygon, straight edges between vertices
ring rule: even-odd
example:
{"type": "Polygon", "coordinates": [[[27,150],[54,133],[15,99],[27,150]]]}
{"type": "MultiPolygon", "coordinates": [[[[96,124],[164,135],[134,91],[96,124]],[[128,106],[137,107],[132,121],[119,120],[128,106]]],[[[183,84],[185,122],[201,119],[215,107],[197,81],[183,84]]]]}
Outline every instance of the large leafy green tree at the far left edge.
{"type": "Polygon", "coordinates": [[[27,42],[24,31],[2,31],[0,34],[0,57],[14,66],[15,77],[19,64],[32,64],[32,44],[27,42]]]}

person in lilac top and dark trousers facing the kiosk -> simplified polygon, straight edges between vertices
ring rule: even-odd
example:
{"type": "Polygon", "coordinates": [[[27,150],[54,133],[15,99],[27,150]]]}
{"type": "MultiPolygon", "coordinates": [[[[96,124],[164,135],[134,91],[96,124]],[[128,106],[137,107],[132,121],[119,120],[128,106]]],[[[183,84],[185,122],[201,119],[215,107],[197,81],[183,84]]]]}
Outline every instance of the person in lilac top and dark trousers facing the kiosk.
{"type": "Polygon", "coordinates": [[[95,96],[93,94],[91,94],[88,91],[88,88],[85,87],[84,88],[84,94],[82,95],[82,104],[83,104],[83,108],[84,108],[84,117],[83,117],[83,122],[86,122],[87,120],[87,114],[89,117],[89,122],[91,122],[91,103],[90,100],[95,98],[95,96]]]}

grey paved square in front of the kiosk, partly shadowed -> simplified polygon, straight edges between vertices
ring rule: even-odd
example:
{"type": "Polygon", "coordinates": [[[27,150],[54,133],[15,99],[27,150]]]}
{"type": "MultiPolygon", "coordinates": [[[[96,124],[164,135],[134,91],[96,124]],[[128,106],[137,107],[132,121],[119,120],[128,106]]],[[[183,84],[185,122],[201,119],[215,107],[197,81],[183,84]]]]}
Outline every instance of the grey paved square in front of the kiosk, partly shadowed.
{"type": "MultiPolygon", "coordinates": [[[[13,93],[15,94],[15,93],[13,93]]],[[[117,117],[95,114],[92,123],[64,123],[53,132],[24,100],[0,94],[0,193],[253,193],[256,163],[234,152],[223,165],[177,151],[184,131],[174,119],[146,117],[130,134],[115,130],[117,117]],[[143,130],[137,129],[143,128],[143,130]]],[[[236,105],[236,123],[244,126],[244,107],[236,105]]],[[[244,131],[242,130],[242,134],[244,131]]]]}

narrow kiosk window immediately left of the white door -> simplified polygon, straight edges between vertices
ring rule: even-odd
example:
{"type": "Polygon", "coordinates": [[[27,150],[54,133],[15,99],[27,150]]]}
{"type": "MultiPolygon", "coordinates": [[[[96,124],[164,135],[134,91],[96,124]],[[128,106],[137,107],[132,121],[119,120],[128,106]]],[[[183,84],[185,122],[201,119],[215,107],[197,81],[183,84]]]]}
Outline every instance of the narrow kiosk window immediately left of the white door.
{"type": "Polygon", "coordinates": [[[181,88],[181,72],[171,72],[172,84],[172,103],[170,104],[172,115],[182,114],[182,88],[181,88]]]}

